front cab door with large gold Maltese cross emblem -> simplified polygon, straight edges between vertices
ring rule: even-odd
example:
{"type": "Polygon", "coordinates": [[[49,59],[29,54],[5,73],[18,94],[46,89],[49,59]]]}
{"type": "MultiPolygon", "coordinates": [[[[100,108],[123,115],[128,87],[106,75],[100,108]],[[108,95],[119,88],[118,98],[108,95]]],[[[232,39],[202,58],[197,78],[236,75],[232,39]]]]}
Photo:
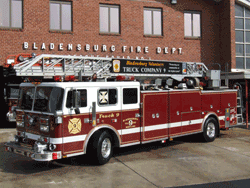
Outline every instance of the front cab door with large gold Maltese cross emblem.
{"type": "Polygon", "coordinates": [[[89,127],[89,108],[87,89],[66,89],[66,104],[64,106],[62,142],[63,155],[83,152],[84,140],[87,136],[86,128],[89,127]],[[75,93],[79,92],[80,114],[75,113],[75,93]]]}

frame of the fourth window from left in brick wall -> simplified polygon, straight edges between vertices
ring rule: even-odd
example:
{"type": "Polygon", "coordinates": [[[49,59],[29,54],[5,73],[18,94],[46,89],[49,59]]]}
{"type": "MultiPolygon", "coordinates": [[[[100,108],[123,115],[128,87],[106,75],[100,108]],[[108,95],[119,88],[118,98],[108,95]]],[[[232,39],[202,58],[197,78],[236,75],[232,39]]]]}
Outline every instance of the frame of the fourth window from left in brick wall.
{"type": "Polygon", "coordinates": [[[162,8],[155,8],[155,7],[143,7],[143,34],[144,36],[163,36],[163,11],[162,8]],[[145,33],[145,22],[144,22],[144,17],[145,17],[145,10],[150,11],[151,12],[151,33],[152,34],[146,34],[145,33]],[[154,12],[160,12],[161,13],[161,34],[154,34],[154,12]]]}

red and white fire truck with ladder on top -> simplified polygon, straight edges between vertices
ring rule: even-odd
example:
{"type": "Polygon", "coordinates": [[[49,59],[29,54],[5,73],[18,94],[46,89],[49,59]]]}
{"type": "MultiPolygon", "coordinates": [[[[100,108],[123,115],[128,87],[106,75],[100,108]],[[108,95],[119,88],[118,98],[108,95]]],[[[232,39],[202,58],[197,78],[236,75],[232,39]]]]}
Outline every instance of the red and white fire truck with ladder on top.
{"type": "Polygon", "coordinates": [[[25,82],[6,151],[36,161],[87,154],[105,164],[115,147],[191,134],[212,142],[237,123],[237,90],[203,63],[30,54],[7,65],[25,82]]]}

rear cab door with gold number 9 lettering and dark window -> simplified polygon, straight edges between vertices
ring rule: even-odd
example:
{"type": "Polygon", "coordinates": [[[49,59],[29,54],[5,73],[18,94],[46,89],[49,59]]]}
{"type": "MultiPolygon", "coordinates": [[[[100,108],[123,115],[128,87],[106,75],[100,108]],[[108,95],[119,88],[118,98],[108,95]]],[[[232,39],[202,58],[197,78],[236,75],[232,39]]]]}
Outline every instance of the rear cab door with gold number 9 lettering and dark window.
{"type": "Polygon", "coordinates": [[[140,142],[140,90],[136,86],[121,88],[122,93],[122,144],[140,142]]]}

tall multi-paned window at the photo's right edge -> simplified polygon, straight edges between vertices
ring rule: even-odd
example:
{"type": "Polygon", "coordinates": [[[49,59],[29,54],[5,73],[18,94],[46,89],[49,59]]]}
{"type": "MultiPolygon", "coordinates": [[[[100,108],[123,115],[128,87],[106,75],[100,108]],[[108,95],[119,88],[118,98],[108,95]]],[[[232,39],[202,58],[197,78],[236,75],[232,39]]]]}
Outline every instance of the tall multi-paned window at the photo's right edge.
{"type": "Polygon", "coordinates": [[[235,4],[236,68],[250,69],[250,10],[235,4]]]}

